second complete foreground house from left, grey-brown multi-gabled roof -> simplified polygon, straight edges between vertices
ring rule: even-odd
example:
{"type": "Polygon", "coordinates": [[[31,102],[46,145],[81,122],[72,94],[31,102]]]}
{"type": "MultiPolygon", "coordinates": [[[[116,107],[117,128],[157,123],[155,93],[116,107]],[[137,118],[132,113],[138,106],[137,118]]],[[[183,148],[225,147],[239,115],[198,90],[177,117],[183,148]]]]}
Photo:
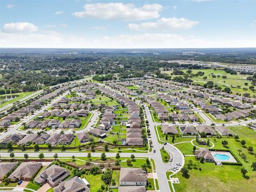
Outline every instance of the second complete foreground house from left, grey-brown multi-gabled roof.
{"type": "Polygon", "coordinates": [[[51,187],[55,187],[63,179],[68,177],[69,174],[69,171],[63,167],[52,165],[39,173],[39,175],[35,178],[35,182],[42,184],[48,182],[51,187]]]}

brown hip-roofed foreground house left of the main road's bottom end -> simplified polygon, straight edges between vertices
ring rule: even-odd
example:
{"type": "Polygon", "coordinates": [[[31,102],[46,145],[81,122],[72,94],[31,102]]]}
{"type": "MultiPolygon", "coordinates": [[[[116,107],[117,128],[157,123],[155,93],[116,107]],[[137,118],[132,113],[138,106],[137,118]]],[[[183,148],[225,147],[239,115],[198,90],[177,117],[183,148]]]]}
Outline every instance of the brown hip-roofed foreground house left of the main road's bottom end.
{"type": "Polygon", "coordinates": [[[146,186],[147,175],[140,168],[121,168],[119,185],[121,186],[146,186]]]}

